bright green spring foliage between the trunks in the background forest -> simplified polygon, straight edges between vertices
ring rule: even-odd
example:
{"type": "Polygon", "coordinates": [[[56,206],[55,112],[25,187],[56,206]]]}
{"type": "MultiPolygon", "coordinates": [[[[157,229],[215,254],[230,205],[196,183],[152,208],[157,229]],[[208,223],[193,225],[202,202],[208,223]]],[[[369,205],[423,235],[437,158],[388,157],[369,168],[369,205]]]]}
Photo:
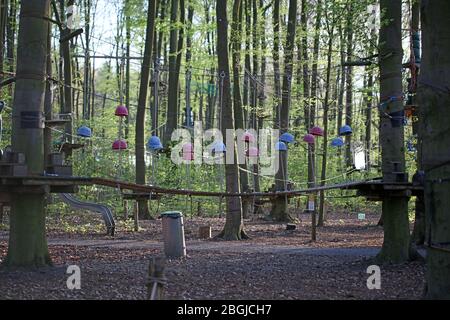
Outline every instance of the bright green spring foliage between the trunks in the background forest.
{"type": "MultiPolygon", "coordinates": [[[[300,32],[300,29],[297,32],[298,37],[307,36],[308,37],[308,45],[311,45],[312,37],[314,36],[315,30],[313,26],[313,21],[316,14],[316,2],[315,1],[306,1],[307,2],[307,18],[308,18],[308,29],[306,32],[300,32]]],[[[167,45],[167,38],[170,31],[170,1],[165,1],[165,17],[162,19],[159,15],[156,21],[156,30],[159,35],[161,33],[163,35],[163,64],[164,64],[164,46],[167,45]]],[[[145,38],[145,27],[146,27],[146,10],[147,10],[147,1],[143,0],[127,0],[127,1],[113,1],[115,8],[117,9],[118,16],[118,25],[111,26],[112,29],[121,28],[124,29],[126,23],[128,23],[129,28],[131,30],[131,49],[133,56],[139,55],[142,52],[143,48],[143,39],[145,38]],[[128,19],[126,19],[128,18],[128,19]]],[[[231,18],[231,8],[232,1],[229,1],[230,4],[230,14],[229,18],[231,18]]],[[[273,126],[273,104],[279,102],[280,97],[277,97],[274,90],[274,74],[272,68],[272,55],[271,48],[273,45],[273,26],[271,22],[271,2],[268,0],[262,1],[263,8],[265,10],[258,10],[258,25],[256,26],[257,38],[261,39],[264,37],[266,46],[261,47],[261,43],[258,45],[253,43],[253,24],[251,24],[251,30],[245,30],[245,23],[242,26],[242,50],[241,55],[244,58],[245,55],[248,55],[253,58],[253,56],[257,57],[260,65],[263,60],[266,62],[266,73],[264,74],[264,80],[262,75],[259,75],[259,81],[264,81],[264,92],[258,92],[261,96],[264,96],[266,99],[261,99],[257,103],[257,114],[259,116],[265,117],[265,122],[263,127],[271,127],[273,126]],[[251,31],[251,32],[246,32],[251,31]],[[248,38],[249,37],[249,38],[248,38]],[[250,43],[250,49],[244,49],[244,43],[250,43]]],[[[287,3],[286,1],[281,1],[281,17],[285,18],[287,14],[287,3]]],[[[377,1],[373,0],[364,0],[364,1],[348,1],[348,0],[339,0],[339,1],[322,1],[322,6],[324,10],[324,17],[321,23],[320,31],[320,40],[321,47],[319,50],[318,57],[318,70],[319,70],[319,87],[323,85],[323,78],[326,72],[326,49],[324,44],[328,40],[330,36],[341,39],[342,41],[334,41],[333,46],[333,54],[332,54],[332,73],[331,78],[336,79],[332,81],[331,90],[333,90],[333,94],[330,96],[330,130],[329,136],[330,139],[336,135],[338,130],[336,124],[336,116],[338,109],[343,106],[338,105],[338,90],[339,83],[337,79],[339,77],[340,72],[342,71],[341,66],[341,52],[346,48],[346,38],[345,38],[345,28],[347,26],[347,21],[351,19],[352,24],[350,27],[354,32],[354,51],[355,57],[351,57],[354,59],[362,58],[368,56],[373,51],[376,51],[377,45],[377,37],[378,35],[372,34],[367,27],[367,20],[370,17],[370,13],[367,12],[368,5],[377,4],[377,1]],[[351,10],[350,10],[351,9],[351,10]],[[333,23],[334,33],[330,34],[329,25],[333,23]],[[374,50],[375,49],[375,50],[374,50]]],[[[258,4],[259,5],[259,4],[258,4]]],[[[188,6],[192,6],[194,8],[194,19],[193,26],[189,33],[185,35],[192,36],[192,82],[191,82],[191,106],[193,108],[194,113],[197,115],[200,112],[200,108],[203,108],[203,119],[205,118],[205,109],[208,103],[208,98],[213,98],[215,105],[217,106],[220,101],[217,98],[219,92],[218,85],[218,77],[215,74],[216,72],[216,64],[217,57],[215,55],[215,43],[216,40],[216,30],[215,30],[215,1],[213,0],[189,0],[186,1],[186,8],[188,6]],[[210,50],[213,51],[210,54],[210,50]],[[212,84],[209,84],[208,81],[212,81],[212,84]]],[[[261,9],[261,8],[259,8],[261,9]]],[[[245,13],[245,12],[244,12],[245,13]]],[[[82,15],[82,12],[79,12],[82,15]]],[[[250,12],[251,16],[251,12],[250,12]]],[[[244,20],[247,17],[244,14],[244,20]]],[[[183,25],[177,23],[175,26],[177,28],[182,28],[183,25]]],[[[282,19],[281,24],[281,52],[283,52],[285,43],[284,39],[286,33],[286,23],[282,19]]],[[[125,32],[117,33],[112,32],[114,37],[111,39],[104,38],[103,35],[95,35],[95,38],[92,39],[94,43],[94,47],[104,47],[107,43],[112,43],[111,46],[108,47],[111,53],[117,50],[118,54],[121,55],[124,53],[124,42],[125,42],[125,32]],[[100,37],[102,36],[102,37],[100,37]],[[101,38],[98,40],[96,38],[101,38]],[[114,45],[114,46],[113,46],[114,45]],[[119,47],[119,49],[118,49],[119,47]]],[[[82,47],[77,43],[74,43],[74,53],[84,54],[82,47]]],[[[103,48],[102,48],[103,49],[103,48]]],[[[303,65],[307,65],[311,67],[313,61],[312,57],[312,48],[308,47],[309,60],[303,61],[302,59],[297,60],[295,62],[294,70],[296,74],[294,74],[293,78],[293,87],[292,87],[292,98],[291,98],[291,128],[290,131],[295,133],[296,139],[298,143],[294,146],[290,147],[289,150],[289,179],[295,183],[296,189],[304,189],[306,188],[307,181],[307,152],[306,147],[301,142],[302,135],[308,131],[308,128],[305,127],[304,124],[304,112],[306,105],[314,104],[317,110],[317,124],[321,124],[322,112],[323,112],[323,92],[319,93],[319,97],[317,101],[306,100],[303,98],[304,96],[304,87],[302,81],[302,67],[303,65]],[[295,123],[295,125],[294,125],[295,123]]],[[[185,48],[183,49],[183,62],[182,69],[180,72],[180,110],[183,110],[186,102],[185,102],[185,77],[187,66],[185,65],[185,48]]],[[[299,48],[295,49],[297,50],[299,48]]],[[[103,51],[103,50],[100,50],[103,51]]],[[[103,52],[102,54],[105,54],[103,52]]],[[[52,56],[54,57],[54,65],[53,65],[53,74],[58,75],[58,59],[59,59],[59,51],[58,51],[58,43],[55,40],[54,42],[54,52],[52,52],[52,56]]],[[[282,61],[283,59],[281,59],[282,61]]],[[[244,59],[242,59],[244,61],[244,59]]],[[[136,114],[136,103],[137,103],[137,88],[139,87],[139,72],[140,72],[140,62],[137,60],[132,60],[131,63],[131,74],[130,74],[130,87],[131,87],[131,96],[130,96],[130,124],[128,131],[128,150],[122,151],[121,153],[115,152],[111,150],[111,145],[115,139],[118,138],[118,128],[119,128],[119,119],[114,116],[114,110],[120,102],[120,97],[123,96],[123,93],[120,92],[119,89],[119,79],[123,78],[123,75],[119,74],[119,71],[116,67],[116,63],[120,63],[120,61],[115,61],[114,59],[108,60],[100,60],[100,62],[96,61],[96,70],[95,70],[95,97],[94,101],[94,111],[95,116],[93,119],[86,120],[81,119],[81,117],[76,115],[75,113],[75,121],[74,128],[76,130],[77,127],[81,125],[87,125],[93,129],[93,138],[92,139],[82,139],[76,138],[76,142],[85,144],[85,147],[81,150],[77,150],[73,154],[73,158],[69,159],[69,161],[73,165],[74,174],[77,176],[99,176],[99,177],[109,177],[116,178],[124,181],[134,181],[135,180],[135,166],[134,166],[134,120],[136,114]]],[[[82,59],[78,59],[74,61],[74,66],[82,64],[82,59]]],[[[282,66],[281,66],[282,67],[282,66]]],[[[353,129],[354,129],[354,141],[362,142],[365,138],[365,105],[363,105],[363,99],[367,97],[369,92],[377,92],[378,84],[375,84],[372,88],[364,86],[363,81],[361,80],[365,74],[367,74],[370,70],[377,74],[376,67],[367,67],[367,68],[355,68],[355,81],[354,81],[354,95],[355,95],[355,112],[353,116],[353,129]]],[[[74,72],[74,84],[73,86],[77,88],[74,96],[78,99],[75,99],[75,102],[78,102],[76,109],[81,109],[81,101],[83,93],[78,89],[81,88],[82,84],[82,75],[83,75],[82,67],[79,67],[76,72],[74,72]]],[[[249,87],[244,88],[243,84],[244,80],[244,68],[241,67],[241,85],[243,89],[251,90],[252,84],[249,84],[249,87]]],[[[250,70],[251,71],[251,70],[250,70]]],[[[258,74],[260,71],[257,72],[258,74]]],[[[308,75],[310,76],[310,74],[308,75]]],[[[168,71],[164,70],[161,72],[161,82],[162,86],[160,87],[160,113],[159,113],[159,123],[160,125],[164,125],[165,123],[165,109],[167,106],[167,78],[168,71]]],[[[377,82],[377,81],[375,81],[377,82]]],[[[58,113],[59,109],[59,101],[57,90],[54,91],[54,113],[58,113]]],[[[2,90],[1,98],[7,101],[12,99],[11,93],[2,90]]],[[[372,104],[375,107],[378,103],[378,97],[374,95],[372,104]]],[[[152,99],[149,99],[149,106],[153,104],[152,99]]],[[[250,101],[249,101],[250,104],[250,101]]],[[[246,112],[251,111],[250,106],[244,106],[246,112]]],[[[150,137],[149,125],[150,125],[150,117],[149,110],[147,109],[147,137],[150,137]]],[[[377,109],[373,108],[373,129],[372,129],[372,145],[373,148],[369,150],[371,154],[372,163],[379,164],[379,142],[378,142],[378,117],[377,117],[377,109]]],[[[3,112],[3,140],[0,143],[0,147],[4,148],[6,145],[10,144],[10,128],[11,123],[11,113],[9,110],[3,112]]],[[[216,121],[217,123],[217,121],[216,121]]],[[[163,128],[163,127],[162,127],[163,128]]],[[[124,127],[125,129],[125,127],[124,127]]],[[[410,127],[406,128],[406,136],[412,136],[410,132],[410,127]]],[[[125,130],[123,130],[123,133],[125,130]]],[[[53,140],[61,140],[63,139],[62,134],[54,132],[53,140]]],[[[321,150],[323,148],[322,141],[319,139],[317,144],[317,163],[316,167],[320,168],[321,166],[321,150]]],[[[53,146],[53,151],[57,152],[58,145],[53,146]]],[[[353,172],[349,175],[346,174],[347,168],[345,168],[345,159],[343,150],[339,151],[337,149],[329,148],[329,157],[328,161],[328,173],[327,183],[340,183],[344,181],[352,181],[358,179],[367,179],[373,178],[380,175],[376,169],[370,169],[367,172],[353,172]]],[[[208,191],[221,191],[224,190],[223,184],[223,171],[221,172],[219,168],[212,166],[195,166],[192,165],[190,168],[190,173],[187,173],[186,166],[175,166],[171,163],[170,159],[166,155],[159,155],[154,167],[155,176],[152,178],[152,163],[151,157],[147,157],[147,181],[149,183],[157,184],[161,187],[166,188],[189,188],[193,190],[208,190],[208,191]]],[[[415,159],[413,153],[407,154],[407,168],[409,168],[409,174],[412,174],[415,171],[415,159]]],[[[317,175],[319,176],[319,175],[317,175]]],[[[250,177],[250,182],[252,182],[252,176],[250,177]]],[[[260,177],[261,188],[262,190],[268,190],[273,184],[273,177],[260,177]]],[[[318,181],[320,183],[320,181],[318,181]]],[[[330,191],[327,192],[326,196],[330,197],[330,202],[333,203],[333,206],[344,208],[349,211],[358,211],[358,210],[377,210],[378,204],[367,203],[364,199],[361,198],[349,198],[351,196],[350,192],[335,192],[330,191]],[[342,198],[341,198],[342,197],[342,198]]],[[[89,201],[98,201],[101,203],[108,204],[114,208],[116,211],[116,215],[120,216],[122,208],[120,193],[117,190],[111,190],[107,188],[101,187],[81,187],[79,196],[81,199],[89,200],[89,201]]],[[[219,199],[194,199],[194,205],[192,212],[197,214],[197,206],[201,204],[201,211],[205,215],[216,215],[219,211],[219,199]]],[[[186,199],[184,197],[163,197],[163,199],[159,203],[159,209],[157,208],[156,203],[152,203],[152,210],[154,211],[154,215],[157,215],[156,211],[163,210],[182,210],[185,212],[191,212],[190,199],[186,199]]],[[[62,209],[62,208],[60,208],[62,209]]],[[[67,209],[64,209],[67,210],[67,209]]],[[[53,211],[51,211],[53,212],[53,211]]],[[[53,214],[53,213],[52,213],[53,214]]]]}

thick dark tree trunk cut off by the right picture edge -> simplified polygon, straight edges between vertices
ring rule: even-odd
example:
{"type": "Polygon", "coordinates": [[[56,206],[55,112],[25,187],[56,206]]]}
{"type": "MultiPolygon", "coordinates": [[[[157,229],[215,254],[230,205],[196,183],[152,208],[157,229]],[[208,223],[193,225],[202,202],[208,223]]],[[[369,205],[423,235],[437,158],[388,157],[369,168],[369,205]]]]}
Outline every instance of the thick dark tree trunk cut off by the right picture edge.
{"type": "Polygon", "coordinates": [[[450,2],[422,0],[423,59],[419,121],[423,139],[427,254],[426,297],[450,299],[450,2]],[[442,180],[441,180],[442,179],[442,180]]]}

